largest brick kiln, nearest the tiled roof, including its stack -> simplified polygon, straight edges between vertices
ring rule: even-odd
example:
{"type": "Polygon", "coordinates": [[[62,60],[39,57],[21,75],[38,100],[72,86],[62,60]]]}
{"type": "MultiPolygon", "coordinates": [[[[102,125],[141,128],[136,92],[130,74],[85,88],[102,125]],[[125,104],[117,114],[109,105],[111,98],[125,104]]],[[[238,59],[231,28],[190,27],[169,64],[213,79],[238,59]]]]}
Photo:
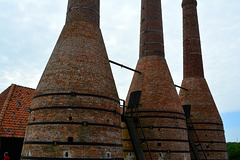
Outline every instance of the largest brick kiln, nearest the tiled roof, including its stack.
{"type": "Polygon", "coordinates": [[[119,98],[99,0],[68,0],[66,24],[34,94],[22,159],[121,159],[119,98]]]}

